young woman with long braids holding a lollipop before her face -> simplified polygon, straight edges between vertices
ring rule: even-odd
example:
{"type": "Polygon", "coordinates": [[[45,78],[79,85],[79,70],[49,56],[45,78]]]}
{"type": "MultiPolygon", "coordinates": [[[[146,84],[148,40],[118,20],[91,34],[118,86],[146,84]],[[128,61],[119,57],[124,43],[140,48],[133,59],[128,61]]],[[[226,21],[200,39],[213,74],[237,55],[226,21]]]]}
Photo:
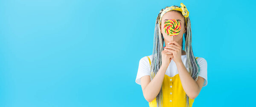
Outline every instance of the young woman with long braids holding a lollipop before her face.
{"type": "Polygon", "coordinates": [[[192,107],[202,87],[207,85],[207,61],[193,54],[189,11],[183,3],[180,5],[160,11],[153,54],[139,62],[135,82],[141,85],[149,107],[192,107]],[[180,33],[173,40],[164,31],[164,23],[171,19],[181,25],[180,33]]]}

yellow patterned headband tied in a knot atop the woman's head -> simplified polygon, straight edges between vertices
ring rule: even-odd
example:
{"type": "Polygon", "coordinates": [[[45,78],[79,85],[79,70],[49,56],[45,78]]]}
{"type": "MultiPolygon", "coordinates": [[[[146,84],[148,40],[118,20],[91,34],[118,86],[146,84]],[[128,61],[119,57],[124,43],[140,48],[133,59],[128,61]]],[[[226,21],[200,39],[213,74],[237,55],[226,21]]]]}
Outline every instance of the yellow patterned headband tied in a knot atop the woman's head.
{"type": "Polygon", "coordinates": [[[185,17],[185,23],[186,23],[186,19],[187,17],[189,17],[189,11],[187,10],[186,6],[183,3],[180,3],[180,8],[179,7],[175,7],[175,6],[171,6],[168,8],[165,8],[163,10],[163,12],[160,15],[160,20],[159,20],[159,25],[161,24],[161,19],[163,17],[163,14],[165,14],[166,12],[170,11],[170,10],[177,10],[177,11],[181,11],[182,15],[185,17]]]}

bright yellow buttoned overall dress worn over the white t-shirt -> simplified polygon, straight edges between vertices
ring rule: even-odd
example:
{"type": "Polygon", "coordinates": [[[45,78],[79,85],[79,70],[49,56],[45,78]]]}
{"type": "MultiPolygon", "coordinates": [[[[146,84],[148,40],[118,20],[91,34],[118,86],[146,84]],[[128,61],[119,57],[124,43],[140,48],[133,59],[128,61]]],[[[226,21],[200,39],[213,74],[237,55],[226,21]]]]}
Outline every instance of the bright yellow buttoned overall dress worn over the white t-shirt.
{"type": "MultiPolygon", "coordinates": [[[[147,56],[148,57],[148,56],[147,56]]],[[[196,57],[197,59],[198,57],[196,57]]],[[[149,64],[151,65],[151,61],[148,57],[149,64]]],[[[176,74],[173,77],[168,75],[164,75],[163,78],[163,107],[186,107],[186,93],[183,90],[182,84],[180,82],[179,74],[176,74]]],[[[189,98],[189,107],[192,107],[194,99],[189,98]]],[[[149,107],[157,107],[156,98],[148,102],[149,107]]]]}

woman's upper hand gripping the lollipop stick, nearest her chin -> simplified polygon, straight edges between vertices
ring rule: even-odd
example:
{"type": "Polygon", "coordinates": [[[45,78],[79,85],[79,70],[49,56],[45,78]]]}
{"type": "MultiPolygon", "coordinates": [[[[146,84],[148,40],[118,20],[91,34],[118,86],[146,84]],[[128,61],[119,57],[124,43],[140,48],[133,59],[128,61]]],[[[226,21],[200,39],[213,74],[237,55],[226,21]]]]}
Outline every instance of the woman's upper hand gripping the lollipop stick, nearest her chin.
{"type": "Polygon", "coordinates": [[[172,53],[172,55],[173,55],[173,61],[174,61],[175,63],[177,63],[177,62],[182,62],[182,60],[181,60],[181,46],[180,46],[180,44],[178,44],[176,41],[171,41],[171,42],[169,42],[169,43],[165,46],[164,49],[166,49],[166,51],[169,51],[169,52],[172,53]]]}

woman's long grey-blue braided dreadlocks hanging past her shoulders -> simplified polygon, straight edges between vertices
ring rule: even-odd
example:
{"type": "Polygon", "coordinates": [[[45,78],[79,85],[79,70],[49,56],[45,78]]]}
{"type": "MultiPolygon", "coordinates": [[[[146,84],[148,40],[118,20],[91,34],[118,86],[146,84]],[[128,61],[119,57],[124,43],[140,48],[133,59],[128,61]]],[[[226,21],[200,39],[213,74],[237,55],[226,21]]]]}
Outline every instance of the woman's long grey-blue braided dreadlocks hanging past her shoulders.
{"type": "MultiPolygon", "coordinates": [[[[169,6],[167,6],[166,8],[168,8],[168,7],[169,6]]],[[[175,7],[180,8],[180,6],[175,6],[175,7]]],[[[155,74],[158,72],[158,70],[160,69],[160,67],[162,65],[161,52],[163,51],[164,38],[163,38],[163,34],[161,34],[161,32],[160,32],[159,20],[160,20],[160,14],[162,13],[162,11],[164,9],[162,9],[160,11],[160,13],[158,14],[155,29],[154,29],[154,47],[153,47],[153,54],[152,54],[153,57],[152,57],[152,63],[151,63],[151,68],[150,68],[150,79],[151,80],[154,78],[155,74]]],[[[171,10],[171,11],[176,11],[176,12],[179,12],[180,14],[182,14],[181,11],[177,11],[177,10],[171,10]]],[[[198,62],[195,59],[195,56],[192,51],[192,44],[191,44],[192,33],[191,33],[191,24],[190,24],[189,17],[187,17],[186,23],[185,23],[185,26],[186,26],[187,30],[183,37],[185,42],[183,42],[183,40],[182,40],[182,49],[184,46],[183,44],[185,43],[184,51],[186,51],[187,62],[189,65],[188,72],[189,72],[190,76],[195,81],[197,81],[200,67],[199,67],[198,62]],[[186,25],[186,23],[187,23],[187,25],[186,25]]],[[[163,84],[162,84],[162,86],[163,86],[163,84]]],[[[156,97],[157,107],[162,107],[162,102],[163,102],[162,86],[161,86],[160,92],[158,93],[158,95],[156,97]]],[[[189,96],[187,96],[187,94],[186,94],[186,106],[189,107],[189,96]]]]}

